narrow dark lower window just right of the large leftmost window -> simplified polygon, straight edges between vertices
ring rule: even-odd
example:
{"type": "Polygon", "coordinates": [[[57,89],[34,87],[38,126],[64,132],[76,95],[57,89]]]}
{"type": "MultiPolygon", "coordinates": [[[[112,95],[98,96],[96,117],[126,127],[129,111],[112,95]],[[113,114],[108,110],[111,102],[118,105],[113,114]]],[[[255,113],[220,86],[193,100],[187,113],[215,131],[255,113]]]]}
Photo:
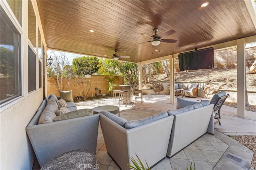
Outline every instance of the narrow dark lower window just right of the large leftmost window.
{"type": "Polygon", "coordinates": [[[28,92],[36,90],[36,54],[28,46],[28,92]]]}

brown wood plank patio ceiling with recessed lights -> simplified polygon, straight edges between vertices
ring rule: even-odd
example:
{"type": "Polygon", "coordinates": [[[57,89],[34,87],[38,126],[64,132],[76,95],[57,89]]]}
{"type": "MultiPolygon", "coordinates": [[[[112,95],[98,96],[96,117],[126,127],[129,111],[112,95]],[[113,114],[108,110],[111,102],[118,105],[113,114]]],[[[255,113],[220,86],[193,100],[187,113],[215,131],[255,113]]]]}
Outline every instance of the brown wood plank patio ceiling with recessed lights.
{"type": "Polygon", "coordinates": [[[202,8],[204,2],[37,1],[48,48],[105,58],[118,49],[119,56],[130,56],[120,60],[134,63],[256,35],[243,0],[210,0],[202,8]],[[178,41],[152,46],[146,41],[154,28],[159,35],[174,29],[176,33],[163,39],[178,41]]]}

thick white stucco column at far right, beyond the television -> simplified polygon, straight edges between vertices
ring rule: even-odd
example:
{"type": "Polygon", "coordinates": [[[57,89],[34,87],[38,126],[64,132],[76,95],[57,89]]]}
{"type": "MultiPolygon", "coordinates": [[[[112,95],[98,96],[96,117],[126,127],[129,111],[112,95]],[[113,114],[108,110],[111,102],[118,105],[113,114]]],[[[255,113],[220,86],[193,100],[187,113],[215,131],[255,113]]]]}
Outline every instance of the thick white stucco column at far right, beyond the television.
{"type": "Polygon", "coordinates": [[[246,70],[244,38],[237,40],[237,115],[245,117],[246,70]]]}

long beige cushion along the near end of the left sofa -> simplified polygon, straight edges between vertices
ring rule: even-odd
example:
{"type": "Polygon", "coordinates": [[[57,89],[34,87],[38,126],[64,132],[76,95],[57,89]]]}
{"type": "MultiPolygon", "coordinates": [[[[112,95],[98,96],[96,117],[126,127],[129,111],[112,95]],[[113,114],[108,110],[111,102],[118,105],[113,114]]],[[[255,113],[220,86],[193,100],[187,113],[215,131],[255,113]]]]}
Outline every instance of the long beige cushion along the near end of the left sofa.
{"type": "Polygon", "coordinates": [[[73,118],[83,117],[88,115],[93,115],[93,109],[78,109],[78,110],[70,111],[55,117],[53,121],[73,119],[73,118]]]}

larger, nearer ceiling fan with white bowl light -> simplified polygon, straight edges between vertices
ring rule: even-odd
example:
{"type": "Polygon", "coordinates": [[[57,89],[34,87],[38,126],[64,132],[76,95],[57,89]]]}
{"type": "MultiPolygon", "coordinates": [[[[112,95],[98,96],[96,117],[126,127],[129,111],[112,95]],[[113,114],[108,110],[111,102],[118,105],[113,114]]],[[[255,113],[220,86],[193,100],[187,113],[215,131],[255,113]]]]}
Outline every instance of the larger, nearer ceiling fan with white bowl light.
{"type": "MultiPolygon", "coordinates": [[[[154,28],[154,35],[152,35],[151,37],[151,41],[146,41],[146,42],[151,42],[152,45],[157,46],[159,45],[161,42],[163,43],[176,43],[176,39],[162,39],[163,37],[168,37],[174,33],[176,33],[176,31],[174,31],[173,29],[171,29],[170,31],[167,31],[166,33],[163,33],[162,35],[158,35],[156,34],[158,32],[158,28],[154,28]]],[[[141,35],[144,35],[146,37],[149,37],[149,35],[145,34],[145,33],[141,33],[141,35]]],[[[143,43],[146,43],[143,42],[143,43]]],[[[139,43],[140,44],[140,43],[139,43]]]]}

